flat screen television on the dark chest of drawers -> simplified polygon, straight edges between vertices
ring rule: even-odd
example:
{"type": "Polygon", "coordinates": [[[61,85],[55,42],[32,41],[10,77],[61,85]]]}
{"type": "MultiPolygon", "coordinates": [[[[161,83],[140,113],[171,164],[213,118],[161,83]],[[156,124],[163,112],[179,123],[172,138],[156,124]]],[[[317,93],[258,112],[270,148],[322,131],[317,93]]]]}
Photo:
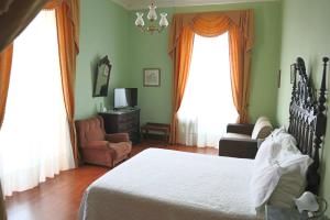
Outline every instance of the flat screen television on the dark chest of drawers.
{"type": "Polygon", "coordinates": [[[133,108],[138,106],[138,88],[116,88],[114,109],[133,108]]]}

